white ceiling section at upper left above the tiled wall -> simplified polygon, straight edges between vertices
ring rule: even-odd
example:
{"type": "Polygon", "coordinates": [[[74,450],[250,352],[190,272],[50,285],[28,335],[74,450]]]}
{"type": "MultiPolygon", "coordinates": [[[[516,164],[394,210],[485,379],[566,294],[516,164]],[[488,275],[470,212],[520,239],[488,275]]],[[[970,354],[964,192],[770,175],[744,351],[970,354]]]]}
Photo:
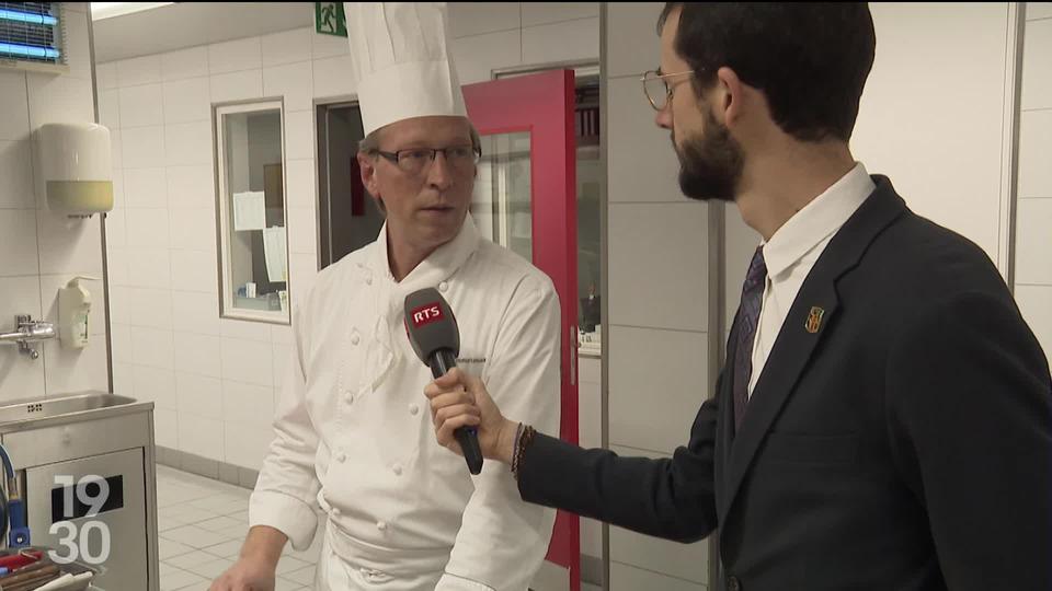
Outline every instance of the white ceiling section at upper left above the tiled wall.
{"type": "Polygon", "coordinates": [[[312,26],[313,20],[313,2],[175,2],[94,21],[95,62],[312,26]]]}

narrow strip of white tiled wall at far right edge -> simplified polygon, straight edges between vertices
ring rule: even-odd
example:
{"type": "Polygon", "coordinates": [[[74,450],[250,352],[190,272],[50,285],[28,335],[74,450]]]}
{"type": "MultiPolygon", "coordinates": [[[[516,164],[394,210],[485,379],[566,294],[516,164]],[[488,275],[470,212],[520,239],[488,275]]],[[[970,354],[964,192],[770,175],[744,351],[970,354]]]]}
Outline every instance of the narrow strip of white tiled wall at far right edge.
{"type": "Polygon", "coordinates": [[[1019,119],[1015,293],[1052,362],[1052,3],[1028,2],[1019,119]]]}

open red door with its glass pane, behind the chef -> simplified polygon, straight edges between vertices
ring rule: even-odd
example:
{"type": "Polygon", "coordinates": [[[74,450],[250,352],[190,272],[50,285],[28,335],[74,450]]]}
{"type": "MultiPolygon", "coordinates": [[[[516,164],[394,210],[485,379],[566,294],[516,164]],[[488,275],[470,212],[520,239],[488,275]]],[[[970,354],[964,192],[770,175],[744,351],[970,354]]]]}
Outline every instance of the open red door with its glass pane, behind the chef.
{"type": "MultiPolygon", "coordinates": [[[[482,136],[472,217],[494,242],[522,254],[554,282],[562,308],[562,425],[578,442],[578,213],[573,70],[464,86],[482,136]]],[[[548,561],[581,589],[578,517],[559,511],[548,561]]]]}

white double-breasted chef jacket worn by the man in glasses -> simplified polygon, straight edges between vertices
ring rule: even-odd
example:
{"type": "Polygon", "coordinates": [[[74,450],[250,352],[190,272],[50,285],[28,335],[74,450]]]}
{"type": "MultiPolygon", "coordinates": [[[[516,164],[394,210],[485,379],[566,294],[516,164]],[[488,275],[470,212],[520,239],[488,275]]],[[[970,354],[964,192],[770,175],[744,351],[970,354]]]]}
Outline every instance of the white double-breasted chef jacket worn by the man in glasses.
{"type": "Polygon", "coordinates": [[[425,287],[437,288],[457,318],[458,364],[482,378],[507,416],[557,432],[560,313],[551,280],[481,237],[468,216],[453,241],[396,282],[385,225],[376,242],[322,270],[296,313],[249,522],[302,549],[317,501],[334,554],[376,575],[377,589],[525,590],[554,511],[525,503],[506,465],[485,461],[471,476],[435,441],[423,394],[433,378],[402,324],[405,296],[425,287]],[[421,584],[428,572],[431,583],[421,584]]]}

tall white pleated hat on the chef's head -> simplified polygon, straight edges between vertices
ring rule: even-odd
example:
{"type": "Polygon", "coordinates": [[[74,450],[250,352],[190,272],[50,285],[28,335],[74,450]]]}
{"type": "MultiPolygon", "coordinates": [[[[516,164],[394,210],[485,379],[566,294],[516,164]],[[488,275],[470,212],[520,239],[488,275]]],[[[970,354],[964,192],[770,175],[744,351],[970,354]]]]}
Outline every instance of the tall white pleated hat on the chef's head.
{"type": "Polygon", "coordinates": [[[467,117],[449,51],[445,2],[343,7],[366,135],[412,117],[467,117]]]}

